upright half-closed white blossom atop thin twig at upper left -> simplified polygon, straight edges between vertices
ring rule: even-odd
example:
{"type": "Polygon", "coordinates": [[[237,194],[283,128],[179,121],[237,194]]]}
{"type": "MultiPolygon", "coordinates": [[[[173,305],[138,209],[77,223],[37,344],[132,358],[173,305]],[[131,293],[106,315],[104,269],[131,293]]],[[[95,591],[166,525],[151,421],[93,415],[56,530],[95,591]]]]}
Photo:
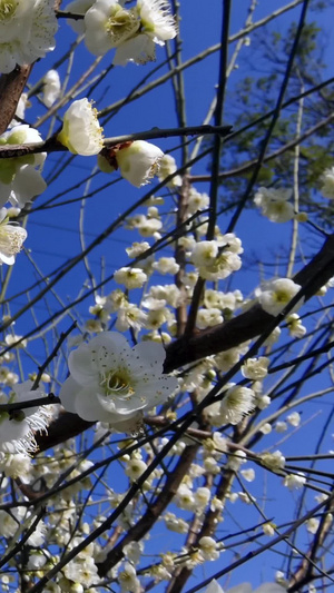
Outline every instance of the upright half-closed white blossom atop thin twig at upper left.
{"type": "Polygon", "coordinates": [[[63,116],[62,129],[57,140],[73,155],[89,157],[104,148],[102,128],[97,110],[88,99],[73,101],[63,116]]]}

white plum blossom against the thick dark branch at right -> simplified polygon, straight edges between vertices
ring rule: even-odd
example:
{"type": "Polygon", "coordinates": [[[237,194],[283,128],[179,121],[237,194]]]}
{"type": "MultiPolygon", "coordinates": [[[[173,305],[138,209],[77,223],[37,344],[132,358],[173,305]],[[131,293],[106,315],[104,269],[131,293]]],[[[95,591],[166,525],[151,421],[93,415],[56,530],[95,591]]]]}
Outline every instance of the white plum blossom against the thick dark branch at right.
{"type": "MultiPolygon", "coordinates": [[[[267,283],[263,289],[259,290],[258,302],[262,308],[269,315],[278,315],[291,299],[301,290],[301,286],[295,284],[291,278],[277,278],[267,283]]],[[[304,302],[304,297],[301,297],[298,303],[293,307],[295,312],[304,302]]]]}

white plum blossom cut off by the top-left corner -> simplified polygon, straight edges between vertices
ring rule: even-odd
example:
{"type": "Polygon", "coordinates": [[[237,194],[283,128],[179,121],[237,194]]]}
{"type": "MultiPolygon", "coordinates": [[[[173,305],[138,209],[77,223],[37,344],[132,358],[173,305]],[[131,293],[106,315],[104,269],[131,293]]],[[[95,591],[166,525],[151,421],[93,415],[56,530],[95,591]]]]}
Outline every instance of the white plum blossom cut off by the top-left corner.
{"type": "Polygon", "coordinates": [[[6,0],[0,4],[0,72],[32,63],[55,49],[53,0],[6,0]]]}

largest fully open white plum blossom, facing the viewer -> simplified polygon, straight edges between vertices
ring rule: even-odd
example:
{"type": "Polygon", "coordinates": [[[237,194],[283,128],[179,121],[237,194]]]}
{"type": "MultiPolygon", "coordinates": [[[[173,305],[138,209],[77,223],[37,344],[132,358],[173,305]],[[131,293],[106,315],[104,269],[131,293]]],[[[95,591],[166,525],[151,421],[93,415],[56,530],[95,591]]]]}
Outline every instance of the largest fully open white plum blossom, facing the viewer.
{"type": "Polygon", "coordinates": [[[161,375],[164,359],[163,345],[143,342],[131,348],[121,334],[104,332],[70,353],[70,377],[59,397],[88,422],[132,419],[177,388],[175,377],[161,375]]]}

